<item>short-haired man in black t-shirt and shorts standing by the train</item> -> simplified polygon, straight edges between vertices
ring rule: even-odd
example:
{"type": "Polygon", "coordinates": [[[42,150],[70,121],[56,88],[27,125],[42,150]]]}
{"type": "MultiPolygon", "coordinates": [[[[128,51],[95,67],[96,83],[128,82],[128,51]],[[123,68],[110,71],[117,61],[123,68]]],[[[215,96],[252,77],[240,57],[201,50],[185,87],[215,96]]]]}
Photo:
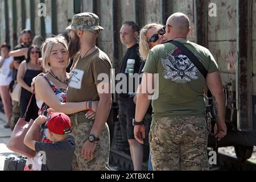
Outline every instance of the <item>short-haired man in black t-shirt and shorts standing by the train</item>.
{"type": "MultiPolygon", "coordinates": [[[[135,79],[134,73],[139,72],[141,67],[141,58],[139,57],[137,37],[139,34],[139,27],[134,22],[123,23],[120,29],[120,39],[123,45],[127,47],[127,52],[123,56],[120,73],[127,77],[127,90],[118,94],[119,112],[118,118],[121,125],[121,131],[124,140],[128,140],[130,145],[131,159],[135,171],[142,170],[143,160],[143,146],[134,138],[133,119],[135,117],[135,104],[133,97],[135,96],[135,79]],[[133,84],[129,84],[129,82],[133,84]],[[133,85],[134,88],[129,88],[133,85]],[[132,90],[131,90],[132,89],[132,90]]],[[[123,90],[123,89],[122,89],[123,90]]]]}

